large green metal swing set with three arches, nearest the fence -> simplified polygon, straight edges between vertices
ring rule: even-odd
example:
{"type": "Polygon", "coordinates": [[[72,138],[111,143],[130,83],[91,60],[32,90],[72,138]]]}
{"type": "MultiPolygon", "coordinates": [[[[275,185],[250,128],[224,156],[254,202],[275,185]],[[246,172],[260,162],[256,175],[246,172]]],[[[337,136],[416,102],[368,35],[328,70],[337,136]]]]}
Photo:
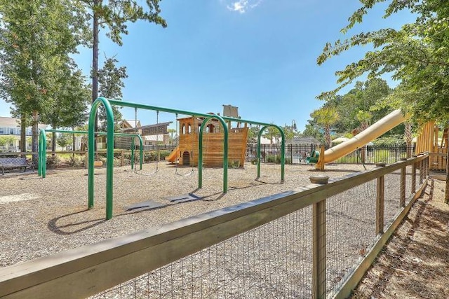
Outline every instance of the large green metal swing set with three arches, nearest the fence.
{"type": "Polygon", "coordinates": [[[262,129],[259,132],[257,139],[257,155],[259,155],[257,164],[257,178],[260,177],[260,138],[262,137],[262,132],[267,129],[267,127],[275,127],[279,130],[281,134],[281,183],[284,181],[285,177],[285,134],[281,127],[274,124],[260,123],[252,120],[243,120],[240,118],[230,118],[227,116],[212,115],[206,113],[196,113],[192,111],[182,111],[177,109],[168,109],[158,106],[150,106],[145,104],[138,104],[132,102],[123,102],[116,99],[106,99],[104,97],[99,97],[93,102],[91,106],[91,113],[88,122],[88,209],[93,208],[94,204],[94,125],[95,125],[95,115],[98,110],[98,106],[102,104],[105,107],[107,115],[107,169],[106,169],[106,219],[112,218],[113,211],[113,198],[114,198],[114,169],[113,169],[113,159],[114,159],[114,113],[112,113],[112,105],[114,106],[124,106],[131,107],[135,109],[145,109],[153,111],[162,111],[168,113],[179,113],[190,116],[199,116],[204,118],[203,123],[199,129],[199,157],[198,157],[198,188],[203,186],[203,130],[210,119],[215,119],[220,122],[223,130],[223,193],[227,193],[227,176],[228,176],[228,123],[238,122],[238,123],[252,123],[253,125],[262,125],[262,129]],[[227,123],[228,122],[228,123],[227,123]]]}

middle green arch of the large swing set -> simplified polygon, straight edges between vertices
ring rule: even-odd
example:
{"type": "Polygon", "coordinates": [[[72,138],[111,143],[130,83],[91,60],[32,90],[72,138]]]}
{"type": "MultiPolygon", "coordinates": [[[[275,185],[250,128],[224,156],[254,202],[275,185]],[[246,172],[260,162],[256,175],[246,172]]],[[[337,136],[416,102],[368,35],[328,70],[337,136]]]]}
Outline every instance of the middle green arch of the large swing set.
{"type": "Polygon", "coordinates": [[[225,133],[225,139],[223,140],[223,193],[227,193],[227,167],[228,167],[228,136],[229,132],[227,130],[227,124],[221,116],[209,116],[204,118],[201,127],[199,128],[199,139],[198,139],[198,188],[203,188],[203,131],[206,127],[206,123],[211,119],[215,118],[220,121],[223,126],[223,132],[225,133]]]}

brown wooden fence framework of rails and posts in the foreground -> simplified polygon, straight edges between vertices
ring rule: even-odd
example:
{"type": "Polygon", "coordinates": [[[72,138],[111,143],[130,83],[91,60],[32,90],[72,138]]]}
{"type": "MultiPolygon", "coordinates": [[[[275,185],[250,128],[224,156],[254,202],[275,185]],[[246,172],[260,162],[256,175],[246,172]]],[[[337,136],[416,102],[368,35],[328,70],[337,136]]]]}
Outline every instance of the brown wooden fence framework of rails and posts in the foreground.
{"type": "MultiPolygon", "coordinates": [[[[85,298],[124,281],[155,270],[230,237],[260,227],[305,207],[314,207],[314,298],[326,295],[326,199],[368,181],[377,180],[377,202],[382,207],[383,177],[398,169],[413,165],[413,176],[419,168],[424,179],[415,193],[417,198],[427,181],[429,155],[420,155],[386,167],[354,173],[342,179],[330,180],[326,185],[311,184],[258,200],[210,211],[206,214],[175,221],[123,237],[107,239],[97,244],[71,249],[53,256],[30,260],[0,269],[1,298],[85,298]],[[427,165],[427,166],[426,166],[427,165]],[[382,178],[382,179],[381,179],[382,178]],[[324,276],[323,276],[324,275],[324,276]]],[[[401,176],[405,176],[405,170],[401,176]]],[[[401,179],[401,187],[405,184],[401,179]],[[403,183],[402,183],[403,182],[403,183]]],[[[404,186],[405,188],[405,186],[404,186]]],[[[402,197],[401,197],[402,198],[402,197]]],[[[402,201],[401,201],[402,202],[402,201]]],[[[403,217],[414,200],[401,211],[403,217]]],[[[379,232],[377,243],[366,260],[354,271],[335,296],[344,298],[361,279],[363,273],[382,249],[401,218],[384,231],[382,214],[377,209],[379,232]],[[359,270],[361,269],[361,270],[359,270]]]]}

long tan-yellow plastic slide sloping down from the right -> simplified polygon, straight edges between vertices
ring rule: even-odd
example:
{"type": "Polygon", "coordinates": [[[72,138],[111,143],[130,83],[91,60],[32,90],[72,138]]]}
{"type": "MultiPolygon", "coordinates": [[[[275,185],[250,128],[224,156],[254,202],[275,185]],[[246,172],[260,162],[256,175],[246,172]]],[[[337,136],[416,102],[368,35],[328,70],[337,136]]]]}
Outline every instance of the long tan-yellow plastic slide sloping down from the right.
{"type": "MultiPolygon", "coordinates": [[[[397,109],[387,116],[384,116],[373,125],[370,125],[366,130],[356,134],[356,136],[352,137],[347,141],[343,141],[341,144],[333,146],[324,152],[324,163],[330,163],[338,158],[347,155],[348,153],[352,153],[357,148],[361,148],[362,146],[368,144],[370,141],[376,139],[380,135],[388,132],[392,128],[396,127],[396,125],[400,125],[405,120],[407,120],[408,116],[404,116],[401,109],[397,109]]],[[[318,163],[321,162],[323,157],[319,157],[318,163]]]]}

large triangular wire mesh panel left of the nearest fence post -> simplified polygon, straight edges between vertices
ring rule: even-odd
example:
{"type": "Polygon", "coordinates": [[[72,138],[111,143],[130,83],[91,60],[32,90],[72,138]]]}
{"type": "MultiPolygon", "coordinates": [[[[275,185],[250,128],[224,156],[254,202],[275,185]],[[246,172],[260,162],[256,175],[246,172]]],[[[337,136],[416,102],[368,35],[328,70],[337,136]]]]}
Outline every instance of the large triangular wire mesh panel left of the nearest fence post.
{"type": "Polygon", "coordinates": [[[92,298],[311,298],[311,207],[92,298]]]}

